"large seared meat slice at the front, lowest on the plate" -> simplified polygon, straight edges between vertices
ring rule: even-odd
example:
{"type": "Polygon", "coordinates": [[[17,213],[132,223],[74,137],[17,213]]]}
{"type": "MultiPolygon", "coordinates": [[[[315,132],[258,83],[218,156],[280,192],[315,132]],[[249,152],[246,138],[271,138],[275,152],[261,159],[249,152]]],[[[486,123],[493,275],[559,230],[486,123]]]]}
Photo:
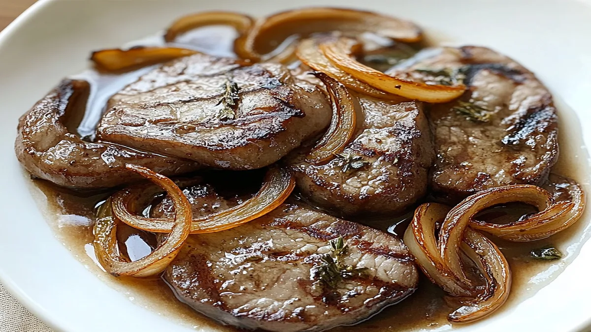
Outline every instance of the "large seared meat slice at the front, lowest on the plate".
{"type": "MultiPolygon", "coordinates": [[[[203,196],[207,203],[193,201],[197,215],[203,204],[220,202],[203,196]]],[[[169,216],[167,206],[154,216],[169,216]]],[[[291,332],[363,320],[410,295],[418,274],[396,237],[283,204],[234,229],[190,235],[164,278],[179,300],[224,324],[291,332]],[[319,266],[339,236],[348,245],[343,264],[366,269],[330,287],[319,281],[319,266]]]]}

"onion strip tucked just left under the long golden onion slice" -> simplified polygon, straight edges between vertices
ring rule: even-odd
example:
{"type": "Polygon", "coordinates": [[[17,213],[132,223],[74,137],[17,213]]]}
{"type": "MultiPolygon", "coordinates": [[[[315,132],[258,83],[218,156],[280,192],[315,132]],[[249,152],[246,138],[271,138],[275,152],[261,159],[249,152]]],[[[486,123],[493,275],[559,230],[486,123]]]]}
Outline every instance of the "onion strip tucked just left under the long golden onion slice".
{"type": "Polygon", "coordinates": [[[395,95],[391,95],[382,90],[378,90],[375,87],[361,82],[355,77],[345,73],[345,71],[337,68],[331,63],[326,56],[320,51],[317,39],[306,39],[300,42],[297,47],[296,55],[300,61],[311,69],[320,71],[339,83],[345,85],[349,89],[355,90],[356,92],[363,93],[380,99],[392,99],[397,98],[395,95]]]}

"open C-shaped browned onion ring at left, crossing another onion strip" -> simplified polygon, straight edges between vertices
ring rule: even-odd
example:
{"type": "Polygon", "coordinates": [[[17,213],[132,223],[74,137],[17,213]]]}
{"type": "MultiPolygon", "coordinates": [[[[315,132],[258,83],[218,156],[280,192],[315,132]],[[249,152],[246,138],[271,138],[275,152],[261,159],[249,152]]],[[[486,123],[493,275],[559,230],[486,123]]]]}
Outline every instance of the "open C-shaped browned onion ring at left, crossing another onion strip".
{"type": "Polygon", "coordinates": [[[170,234],[164,242],[158,246],[150,255],[135,262],[129,262],[119,252],[117,244],[117,222],[112,214],[111,198],[100,206],[98,218],[93,229],[95,240],[93,246],[100,265],[112,275],[128,275],[145,277],[159,274],[177,256],[181,245],[189,236],[191,228],[191,204],[184,196],[180,188],[164,175],[157,174],[148,168],[138,165],[125,165],[129,170],[138,172],[140,175],[160,185],[170,196],[174,203],[174,220],[171,222],[170,234]]]}

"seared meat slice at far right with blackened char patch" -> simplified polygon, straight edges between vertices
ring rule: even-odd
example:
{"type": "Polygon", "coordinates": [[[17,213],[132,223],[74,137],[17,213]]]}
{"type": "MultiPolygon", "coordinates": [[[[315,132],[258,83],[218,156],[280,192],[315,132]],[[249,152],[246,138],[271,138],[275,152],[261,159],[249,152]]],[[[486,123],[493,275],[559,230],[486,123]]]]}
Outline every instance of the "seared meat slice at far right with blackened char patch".
{"type": "Polygon", "coordinates": [[[556,109],[550,92],[520,64],[484,47],[446,47],[422,51],[389,73],[469,87],[428,113],[437,154],[431,181],[442,200],[545,181],[558,158],[556,109]]]}

